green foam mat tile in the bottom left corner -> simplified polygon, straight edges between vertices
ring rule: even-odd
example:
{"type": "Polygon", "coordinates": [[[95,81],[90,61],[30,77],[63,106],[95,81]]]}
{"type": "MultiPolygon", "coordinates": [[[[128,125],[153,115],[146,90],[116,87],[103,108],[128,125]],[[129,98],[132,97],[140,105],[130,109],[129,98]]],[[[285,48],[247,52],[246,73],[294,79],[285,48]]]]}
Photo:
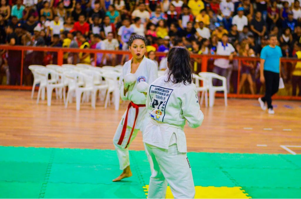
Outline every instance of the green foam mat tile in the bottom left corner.
{"type": "Polygon", "coordinates": [[[1,182],[1,198],[38,198],[42,183],[38,182],[1,182]]]}

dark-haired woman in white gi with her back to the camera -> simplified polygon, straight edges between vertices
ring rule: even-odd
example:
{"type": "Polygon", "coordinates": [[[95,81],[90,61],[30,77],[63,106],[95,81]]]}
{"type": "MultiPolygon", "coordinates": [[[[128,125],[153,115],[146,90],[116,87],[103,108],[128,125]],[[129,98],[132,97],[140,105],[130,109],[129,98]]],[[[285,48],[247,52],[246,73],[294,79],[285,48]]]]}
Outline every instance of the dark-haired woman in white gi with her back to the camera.
{"type": "Polygon", "coordinates": [[[147,198],[165,198],[167,183],[175,198],[194,198],[191,166],[187,158],[186,120],[192,128],[203,122],[203,113],[192,83],[189,52],[173,47],[167,55],[167,74],[151,83],[146,108],[151,118],[143,134],[154,171],[147,198]]]}

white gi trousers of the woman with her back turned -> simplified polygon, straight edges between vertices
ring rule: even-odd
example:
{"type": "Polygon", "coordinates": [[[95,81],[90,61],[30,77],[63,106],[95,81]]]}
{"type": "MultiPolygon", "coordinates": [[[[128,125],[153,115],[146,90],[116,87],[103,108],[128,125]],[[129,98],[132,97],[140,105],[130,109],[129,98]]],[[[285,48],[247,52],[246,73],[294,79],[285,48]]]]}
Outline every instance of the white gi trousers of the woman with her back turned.
{"type": "Polygon", "coordinates": [[[195,188],[186,153],[174,143],[168,149],[146,144],[154,164],[147,198],[165,198],[167,183],[174,198],[194,198],[195,188]]]}

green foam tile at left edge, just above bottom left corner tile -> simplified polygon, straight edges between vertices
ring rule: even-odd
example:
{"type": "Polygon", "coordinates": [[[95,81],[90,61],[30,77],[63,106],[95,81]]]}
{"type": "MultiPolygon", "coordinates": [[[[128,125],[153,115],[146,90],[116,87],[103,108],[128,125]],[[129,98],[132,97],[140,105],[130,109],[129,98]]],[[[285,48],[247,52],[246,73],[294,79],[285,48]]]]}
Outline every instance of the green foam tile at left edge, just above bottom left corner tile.
{"type": "Polygon", "coordinates": [[[42,182],[48,163],[41,162],[0,162],[0,181],[42,182]]]}

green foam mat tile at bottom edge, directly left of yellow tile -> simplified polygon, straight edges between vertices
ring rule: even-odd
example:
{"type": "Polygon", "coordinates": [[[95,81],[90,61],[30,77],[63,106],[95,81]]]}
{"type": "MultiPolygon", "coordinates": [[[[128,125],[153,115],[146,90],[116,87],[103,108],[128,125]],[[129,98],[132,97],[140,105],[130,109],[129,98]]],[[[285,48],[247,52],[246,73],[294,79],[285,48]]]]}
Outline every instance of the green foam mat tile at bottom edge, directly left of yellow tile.
{"type": "Polygon", "coordinates": [[[145,198],[142,186],[124,183],[48,183],[44,198],[145,198]]]}

